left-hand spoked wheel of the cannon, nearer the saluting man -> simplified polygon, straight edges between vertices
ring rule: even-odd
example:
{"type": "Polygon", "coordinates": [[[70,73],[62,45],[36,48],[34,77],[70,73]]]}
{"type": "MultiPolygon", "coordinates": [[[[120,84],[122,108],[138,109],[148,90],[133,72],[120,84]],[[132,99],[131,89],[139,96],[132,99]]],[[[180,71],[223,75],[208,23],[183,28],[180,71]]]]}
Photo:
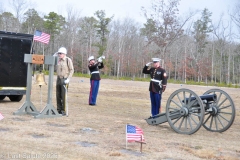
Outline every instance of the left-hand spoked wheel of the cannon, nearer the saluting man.
{"type": "Polygon", "coordinates": [[[204,112],[202,100],[189,89],[176,90],[170,95],[166,104],[168,123],[174,131],[181,134],[197,132],[202,126],[204,112]],[[190,101],[190,97],[196,98],[190,101]]]}

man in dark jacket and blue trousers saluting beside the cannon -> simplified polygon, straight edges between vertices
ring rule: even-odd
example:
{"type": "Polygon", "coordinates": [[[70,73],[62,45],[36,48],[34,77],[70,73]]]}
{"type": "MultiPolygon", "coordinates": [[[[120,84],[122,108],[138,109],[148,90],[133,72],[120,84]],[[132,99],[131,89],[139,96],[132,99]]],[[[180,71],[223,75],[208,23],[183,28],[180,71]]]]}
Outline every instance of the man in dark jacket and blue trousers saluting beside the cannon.
{"type": "Polygon", "coordinates": [[[152,62],[147,63],[143,68],[143,73],[151,76],[149,91],[152,117],[159,114],[162,93],[167,86],[167,73],[165,69],[161,68],[160,60],[159,58],[152,58],[152,62]],[[151,67],[152,63],[153,67],[151,67]]]}

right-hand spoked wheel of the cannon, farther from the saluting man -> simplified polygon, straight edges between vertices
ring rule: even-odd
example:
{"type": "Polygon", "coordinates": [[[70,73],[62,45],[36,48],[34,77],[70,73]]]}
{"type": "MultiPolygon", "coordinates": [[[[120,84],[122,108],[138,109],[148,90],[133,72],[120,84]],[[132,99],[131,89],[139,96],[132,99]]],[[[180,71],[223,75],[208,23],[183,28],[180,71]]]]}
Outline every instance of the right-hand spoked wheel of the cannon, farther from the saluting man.
{"type": "Polygon", "coordinates": [[[220,89],[210,89],[204,94],[216,94],[217,100],[205,109],[203,127],[212,132],[224,132],[235,119],[235,106],[232,98],[220,89]]]}

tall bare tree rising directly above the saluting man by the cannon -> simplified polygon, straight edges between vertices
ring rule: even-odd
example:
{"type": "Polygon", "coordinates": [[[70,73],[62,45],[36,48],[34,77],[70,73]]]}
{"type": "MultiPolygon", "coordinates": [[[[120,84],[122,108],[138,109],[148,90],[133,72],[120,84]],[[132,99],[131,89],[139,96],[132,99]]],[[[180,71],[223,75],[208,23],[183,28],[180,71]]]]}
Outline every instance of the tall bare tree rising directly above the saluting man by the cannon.
{"type": "Polygon", "coordinates": [[[146,17],[146,24],[142,33],[147,36],[149,43],[155,43],[159,47],[158,55],[165,56],[167,48],[183,34],[184,25],[195,14],[191,13],[183,21],[178,16],[180,0],[153,0],[152,10],[142,8],[146,17]]]}

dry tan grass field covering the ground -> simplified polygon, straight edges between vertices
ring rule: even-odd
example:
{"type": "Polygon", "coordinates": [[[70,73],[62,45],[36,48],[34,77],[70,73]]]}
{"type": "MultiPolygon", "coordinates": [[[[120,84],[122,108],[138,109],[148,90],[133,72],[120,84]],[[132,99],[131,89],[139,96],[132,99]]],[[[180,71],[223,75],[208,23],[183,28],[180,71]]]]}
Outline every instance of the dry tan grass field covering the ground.
{"type": "MultiPolygon", "coordinates": [[[[55,80],[52,104],[56,108],[55,80]]],[[[70,81],[69,116],[37,119],[33,115],[14,115],[26,101],[0,101],[1,159],[165,159],[198,160],[240,159],[240,89],[220,88],[234,101],[236,117],[225,132],[210,132],[201,127],[192,135],[176,133],[168,122],[149,125],[149,82],[102,79],[96,106],[88,105],[88,78],[73,77],[70,81]],[[126,124],[144,131],[146,144],[140,153],[139,143],[128,143],[126,124]]],[[[162,112],[171,93],[188,88],[202,95],[216,87],[168,84],[162,97],[162,112]]],[[[31,102],[41,112],[47,104],[48,85],[33,83],[31,102]],[[42,98],[41,98],[42,97],[42,98]]]]}

